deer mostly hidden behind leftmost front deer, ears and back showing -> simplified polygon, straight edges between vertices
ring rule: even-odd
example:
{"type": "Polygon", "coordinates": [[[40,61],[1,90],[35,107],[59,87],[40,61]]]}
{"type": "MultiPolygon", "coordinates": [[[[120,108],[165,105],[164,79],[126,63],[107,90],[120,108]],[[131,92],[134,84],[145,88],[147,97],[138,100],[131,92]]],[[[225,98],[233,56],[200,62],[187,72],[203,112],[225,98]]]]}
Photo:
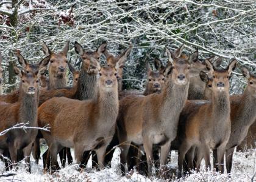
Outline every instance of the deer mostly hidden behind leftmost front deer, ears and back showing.
{"type": "MultiPolygon", "coordinates": [[[[42,59],[40,62],[37,62],[35,64],[30,64],[24,57],[21,55],[20,50],[15,50],[15,55],[18,58],[18,62],[23,66],[23,69],[26,73],[29,72],[36,72],[37,70],[40,70],[43,67],[46,67],[49,63],[48,59],[42,59]]],[[[46,69],[42,69],[44,72],[46,69]]],[[[41,75],[44,75],[44,72],[40,72],[41,75]]],[[[40,83],[41,83],[41,76],[40,76],[40,83]]],[[[5,103],[16,103],[19,99],[20,90],[14,90],[12,93],[9,93],[7,95],[0,95],[0,101],[5,103]]]]}

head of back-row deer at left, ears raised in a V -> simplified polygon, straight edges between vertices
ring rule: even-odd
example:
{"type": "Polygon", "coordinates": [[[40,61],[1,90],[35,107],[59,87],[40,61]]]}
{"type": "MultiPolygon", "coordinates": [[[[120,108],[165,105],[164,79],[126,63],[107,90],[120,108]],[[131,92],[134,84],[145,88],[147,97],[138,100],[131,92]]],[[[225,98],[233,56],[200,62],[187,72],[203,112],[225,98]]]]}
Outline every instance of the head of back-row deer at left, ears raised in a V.
{"type": "Polygon", "coordinates": [[[58,53],[52,52],[49,47],[43,42],[43,52],[45,56],[51,55],[49,64],[49,74],[52,74],[56,78],[63,78],[66,75],[66,66],[68,59],[69,41],[63,47],[63,50],[58,53]]]}

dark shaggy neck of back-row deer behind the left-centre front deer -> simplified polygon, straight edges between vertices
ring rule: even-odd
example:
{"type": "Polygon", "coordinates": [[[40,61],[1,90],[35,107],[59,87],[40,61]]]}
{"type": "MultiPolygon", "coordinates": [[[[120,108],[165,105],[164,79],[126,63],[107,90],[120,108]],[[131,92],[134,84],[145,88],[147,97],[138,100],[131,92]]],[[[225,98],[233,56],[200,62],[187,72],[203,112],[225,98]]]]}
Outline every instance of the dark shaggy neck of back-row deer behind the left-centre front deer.
{"type": "Polygon", "coordinates": [[[77,82],[76,98],[79,100],[93,99],[97,96],[97,76],[96,74],[88,74],[86,70],[82,70],[77,82]]]}

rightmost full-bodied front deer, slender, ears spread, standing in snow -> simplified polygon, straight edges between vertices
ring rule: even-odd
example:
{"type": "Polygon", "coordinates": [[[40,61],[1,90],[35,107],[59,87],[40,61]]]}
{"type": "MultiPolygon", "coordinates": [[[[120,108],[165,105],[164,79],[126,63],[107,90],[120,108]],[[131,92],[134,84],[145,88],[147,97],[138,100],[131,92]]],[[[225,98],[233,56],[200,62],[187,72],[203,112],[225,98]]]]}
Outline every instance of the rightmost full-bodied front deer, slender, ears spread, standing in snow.
{"type": "MultiPolygon", "coordinates": [[[[181,123],[185,121],[184,136],[179,147],[179,177],[181,177],[182,164],[185,154],[191,147],[197,148],[197,170],[200,169],[201,160],[205,158],[205,166],[210,166],[210,149],[216,150],[216,161],[221,172],[224,172],[224,153],[230,136],[230,101],[229,78],[235,69],[236,60],[230,62],[227,69],[216,69],[213,64],[205,60],[207,69],[213,75],[212,102],[203,104],[193,112],[183,112],[180,115],[181,123]],[[185,114],[184,114],[185,113],[185,114]],[[200,118],[200,119],[199,119],[200,118]]],[[[205,77],[208,77],[205,73],[205,77]]],[[[193,169],[194,153],[188,161],[193,169]]]]}

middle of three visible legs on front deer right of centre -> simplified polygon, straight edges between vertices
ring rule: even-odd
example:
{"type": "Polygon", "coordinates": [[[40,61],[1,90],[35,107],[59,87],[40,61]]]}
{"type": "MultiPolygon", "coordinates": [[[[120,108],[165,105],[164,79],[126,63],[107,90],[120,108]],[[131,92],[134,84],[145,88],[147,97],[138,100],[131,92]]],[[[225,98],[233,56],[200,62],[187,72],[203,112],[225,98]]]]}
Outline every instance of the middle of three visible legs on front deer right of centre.
{"type": "Polygon", "coordinates": [[[154,158],[153,158],[153,152],[152,152],[153,143],[151,140],[151,136],[147,136],[147,135],[145,136],[143,137],[143,146],[144,146],[146,157],[147,157],[148,175],[151,176],[152,164],[154,164],[154,158]]]}

